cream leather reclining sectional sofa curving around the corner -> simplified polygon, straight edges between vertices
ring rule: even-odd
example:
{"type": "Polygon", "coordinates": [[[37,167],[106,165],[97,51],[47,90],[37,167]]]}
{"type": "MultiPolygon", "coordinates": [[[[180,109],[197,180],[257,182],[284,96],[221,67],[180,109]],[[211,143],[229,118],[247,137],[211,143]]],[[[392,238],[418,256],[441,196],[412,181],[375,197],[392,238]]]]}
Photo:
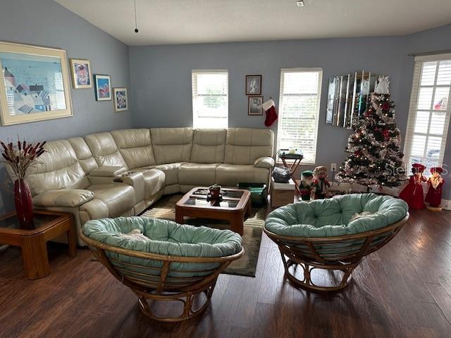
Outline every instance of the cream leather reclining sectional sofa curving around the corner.
{"type": "Polygon", "coordinates": [[[273,138],[268,129],[189,127],[72,137],[48,142],[27,182],[36,208],[70,212],[80,230],[87,220],[137,215],[163,194],[268,182],[273,138]]]}

